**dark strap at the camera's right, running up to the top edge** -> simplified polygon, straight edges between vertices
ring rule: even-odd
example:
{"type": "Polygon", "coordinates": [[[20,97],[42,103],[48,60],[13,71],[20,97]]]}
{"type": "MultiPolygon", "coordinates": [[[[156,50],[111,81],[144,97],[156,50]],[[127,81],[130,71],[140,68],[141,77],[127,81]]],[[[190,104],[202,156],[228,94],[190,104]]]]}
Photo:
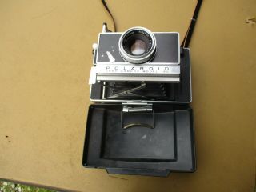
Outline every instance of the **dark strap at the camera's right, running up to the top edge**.
{"type": "Polygon", "coordinates": [[[185,37],[182,41],[181,46],[183,48],[188,47],[190,45],[190,39],[191,39],[191,36],[193,34],[195,22],[197,21],[201,5],[202,5],[202,0],[198,0],[197,5],[195,6],[195,9],[194,9],[193,17],[191,18],[191,21],[190,21],[190,26],[189,26],[188,30],[186,31],[185,37]]]}

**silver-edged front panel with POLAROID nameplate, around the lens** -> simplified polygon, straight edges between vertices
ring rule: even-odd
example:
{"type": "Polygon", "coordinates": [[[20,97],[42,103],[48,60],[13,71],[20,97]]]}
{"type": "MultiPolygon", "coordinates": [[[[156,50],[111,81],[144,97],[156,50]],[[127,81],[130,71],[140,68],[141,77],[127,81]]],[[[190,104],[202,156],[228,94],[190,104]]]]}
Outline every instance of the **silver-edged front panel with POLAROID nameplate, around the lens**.
{"type": "MultiPolygon", "coordinates": [[[[142,27],[134,27],[132,29],[133,32],[134,30],[135,32],[146,30],[142,27]]],[[[127,35],[129,32],[130,30],[125,33],[106,32],[99,34],[98,49],[94,60],[96,64],[94,71],[97,71],[97,75],[91,75],[91,77],[95,77],[90,78],[91,84],[96,81],[124,80],[130,82],[180,81],[180,47],[179,34],[177,32],[153,33],[154,50],[148,55],[147,60],[145,60],[145,57],[143,59],[143,57],[139,58],[136,55],[138,57],[137,61],[135,60],[136,58],[130,58],[134,55],[126,57],[127,50],[125,50],[126,48],[123,49],[126,45],[122,45],[126,42],[121,42],[125,41],[124,34],[127,35]]],[[[141,48],[139,43],[137,44],[137,51],[141,51],[139,50],[141,48]]]]}

